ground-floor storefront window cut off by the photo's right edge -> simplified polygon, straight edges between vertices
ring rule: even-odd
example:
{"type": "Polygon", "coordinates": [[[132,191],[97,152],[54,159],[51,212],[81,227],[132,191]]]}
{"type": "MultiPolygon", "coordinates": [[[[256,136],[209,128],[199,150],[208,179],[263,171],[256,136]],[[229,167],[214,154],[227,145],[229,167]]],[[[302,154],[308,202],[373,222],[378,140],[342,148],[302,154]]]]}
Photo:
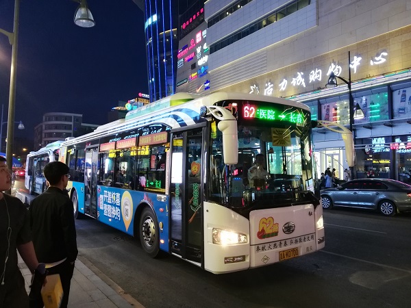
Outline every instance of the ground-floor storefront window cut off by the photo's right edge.
{"type": "Polygon", "coordinates": [[[395,137],[391,150],[395,151],[395,168],[399,181],[411,185],[411,136],[395,137]]]}

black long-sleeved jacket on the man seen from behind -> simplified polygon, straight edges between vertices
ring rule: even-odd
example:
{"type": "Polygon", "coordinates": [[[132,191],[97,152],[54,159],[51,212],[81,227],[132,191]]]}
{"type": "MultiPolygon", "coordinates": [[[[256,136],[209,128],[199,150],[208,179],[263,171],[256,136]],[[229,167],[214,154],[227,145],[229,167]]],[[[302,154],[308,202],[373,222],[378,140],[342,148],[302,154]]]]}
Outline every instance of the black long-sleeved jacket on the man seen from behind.
{"type": "Polygon", "coordinates": [[[39,262],[53,263],[64,258],[75,261],[78,251],[73,203],[66,192],[50,187],[34,198],[29,220],[39,262]]]}

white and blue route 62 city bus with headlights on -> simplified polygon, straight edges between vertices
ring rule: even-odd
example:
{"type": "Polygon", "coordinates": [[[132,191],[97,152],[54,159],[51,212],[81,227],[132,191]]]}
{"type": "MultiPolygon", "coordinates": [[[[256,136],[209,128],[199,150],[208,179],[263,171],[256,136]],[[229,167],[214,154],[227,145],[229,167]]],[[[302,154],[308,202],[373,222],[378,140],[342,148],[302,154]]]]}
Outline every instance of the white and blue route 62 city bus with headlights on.
{"type": "MultiPolygon", "coordinates": [[[[314,123],[314,122],[313,122],[314,123]]],[[[76,218],[90,216],[215,274],[325,245],[310,108],[256,94],[177,93],[60,144],[76,218]],[[264,156],[264,178],[250,168],[264,156]]]]}

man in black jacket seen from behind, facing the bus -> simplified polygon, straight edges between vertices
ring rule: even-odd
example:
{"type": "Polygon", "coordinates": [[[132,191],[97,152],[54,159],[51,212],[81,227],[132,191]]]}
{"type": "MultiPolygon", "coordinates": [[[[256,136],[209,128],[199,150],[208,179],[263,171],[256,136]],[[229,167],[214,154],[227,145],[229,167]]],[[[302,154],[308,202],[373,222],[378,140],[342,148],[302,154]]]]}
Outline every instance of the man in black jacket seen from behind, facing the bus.
{"type": "MultiPolygon", "coordinates": [[[[73,203],[65,190],[69,167],[62,162],[51,162],[45,166],[44,173],[50,187],[32,201],[29,219],[38,260],[46,264],[49,274],[60,274],[64,292],[60,308],[65,308],[78,253],[73,203]]],[[[43,307],[40,290],[41,285],[32,286],[30,307],[43,307]]]]}

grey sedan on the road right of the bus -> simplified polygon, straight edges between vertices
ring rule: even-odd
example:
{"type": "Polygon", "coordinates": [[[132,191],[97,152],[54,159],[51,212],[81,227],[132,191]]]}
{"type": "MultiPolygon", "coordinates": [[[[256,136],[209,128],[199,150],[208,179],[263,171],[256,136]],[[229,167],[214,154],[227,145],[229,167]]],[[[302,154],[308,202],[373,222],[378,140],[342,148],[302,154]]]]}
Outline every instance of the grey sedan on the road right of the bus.
{"type": "Polygon", "coordinates": [[[393,179],[356,179],[320,191],[324,209],[377,209],[385,216],[411,211],[411,185],[393,179]]]}

